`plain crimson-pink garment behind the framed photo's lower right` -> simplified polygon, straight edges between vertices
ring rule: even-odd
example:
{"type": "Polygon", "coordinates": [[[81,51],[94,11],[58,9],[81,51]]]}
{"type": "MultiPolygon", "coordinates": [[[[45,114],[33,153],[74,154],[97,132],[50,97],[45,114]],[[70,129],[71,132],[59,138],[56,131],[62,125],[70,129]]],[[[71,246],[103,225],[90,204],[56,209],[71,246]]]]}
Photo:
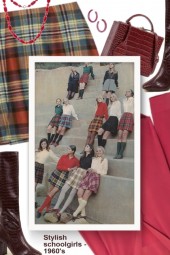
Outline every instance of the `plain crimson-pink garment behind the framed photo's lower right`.
{"type": "MultiPolygon", "coordinates": [[[[164,144],[165,135],[166,143],[170,141],[170,129],[166,129],[170,95],[164,95],[151,99],[156,130],[149,117],[142,115],[141,119],[141,231],[93,232],[100,236],[107,255],[170,255],[170,172],[166,161],[170,147],[167,151],[169,145],[164,144]]],[[[91,247],[90,232],[81,234],[91,247]]],[[[95,249],[93,244],[95,255],[102,254],[101,247],[101,242],[95,249]]]]}

